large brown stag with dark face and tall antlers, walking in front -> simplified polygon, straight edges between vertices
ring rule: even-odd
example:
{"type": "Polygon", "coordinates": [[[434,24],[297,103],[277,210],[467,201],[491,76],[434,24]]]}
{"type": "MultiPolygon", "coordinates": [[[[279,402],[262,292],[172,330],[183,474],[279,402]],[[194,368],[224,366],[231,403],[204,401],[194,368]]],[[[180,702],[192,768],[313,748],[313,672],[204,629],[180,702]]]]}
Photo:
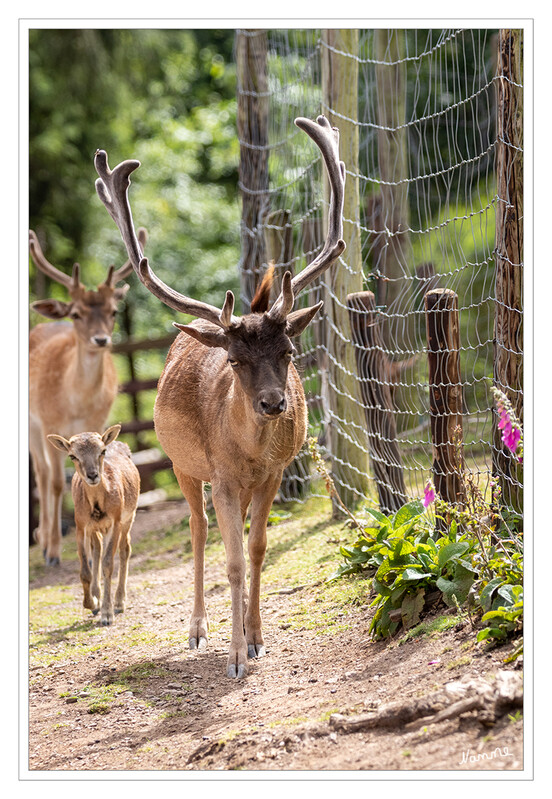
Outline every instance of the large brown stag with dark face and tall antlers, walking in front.
{"type": "MultiPolygon", "coordinates": [[[[134,231],[128,197],[136,160],[110,169],[105,150],[94,161],[97,193],[115,221],[130,261],[144,286],[165,305],[195,319],[173,322],[180,330],[167,355],[154,406],[159,442],[190,509],[194,558],[194,604],[189,647],[205,649],[208,617],[204,601],[204,552],[207,515],[204,495],[211,484],[226,555],[232,605],[232,634],[226,674],[241,679],[248,658],[266,654],[260,614],[261,568],[267,545],[267,520],[284,468],[304,444],[307,406],[292,360],[292,339],[299,336],[323,303],[293,310],[295,298],[336,262],[345,249],[343,197],[345,164],[339,160],[339,131],[324,116],[295,124],[320,149],[331,188],[328,232],[318,256],[299,274],[285,272],[270,308],[252,303],[252,313],[234,315],[234,295],[226,292],[222,309],[186,297],[161,281],[143,256],[134,231]],[[244,524],[250,509],[246,586],[244,524]]],[[[266,288],[266,287],[265,287],[266,288]]],[[[266,292],[265,292],[266,295],[266,292]]],[[[266,303],[265,303],[266,304],[266,303]]]]}

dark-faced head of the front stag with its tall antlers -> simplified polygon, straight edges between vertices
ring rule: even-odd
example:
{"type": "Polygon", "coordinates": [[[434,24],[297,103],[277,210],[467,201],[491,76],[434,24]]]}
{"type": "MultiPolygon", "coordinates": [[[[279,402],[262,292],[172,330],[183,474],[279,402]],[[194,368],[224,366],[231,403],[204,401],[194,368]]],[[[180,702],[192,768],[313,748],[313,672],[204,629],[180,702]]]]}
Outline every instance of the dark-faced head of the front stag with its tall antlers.
{"type": "MultiPolygon", "coordinates": [[[[96,181],[98,195],[119,228],[141,282],[170,308],[210,323],[174,324],[205,346],[221,347],[227,351],[229,368],[234,370],[257,414],[265,419],[276,418],[285,410],[286,379],[294,351],[292,339],[303,332],[322,306],[320,302],[311,308],[293,311],[295,298],[345,249],[342,239],[345,164],[339,160],[339,131],[332,128],[324,116],[319,116],[316,122],[300,117],[295,124],[317,144],[326,165],[331,187],[328,235],[322,251],[302,272],[295,277],[290,272],[284,274],[280,294],[270,309],[262,308],[261,301],[256,303],[254,299],[252,313],[241,318],[233,315],[234,295],[231,291],[226,293],[222,310],[219,310],[179,294],[157,277],[148,259],[144,258],[134,232],[128,199],[130,175],[140,162],[123,161],[111,170],[104,150],[98,150],[94,159],[99,175],[96,181]]],[[[267,295],[268,292],[264,291],[263,296],[267,295]]]]}

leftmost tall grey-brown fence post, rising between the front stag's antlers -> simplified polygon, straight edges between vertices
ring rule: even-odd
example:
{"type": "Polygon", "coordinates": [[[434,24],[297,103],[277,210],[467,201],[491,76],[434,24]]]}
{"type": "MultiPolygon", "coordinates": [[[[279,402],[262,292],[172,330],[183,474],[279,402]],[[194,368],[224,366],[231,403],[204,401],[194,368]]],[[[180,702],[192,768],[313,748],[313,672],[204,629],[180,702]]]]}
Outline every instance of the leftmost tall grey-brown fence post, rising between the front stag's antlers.
{"type": "Polygon", "coordinates": [[[262,219],[268,198],[268,77],[264,30],[238,30],[236,68],[239,185],[242,195],[240,281],[242,312],[249,307],[264,257],[262,219]]]}

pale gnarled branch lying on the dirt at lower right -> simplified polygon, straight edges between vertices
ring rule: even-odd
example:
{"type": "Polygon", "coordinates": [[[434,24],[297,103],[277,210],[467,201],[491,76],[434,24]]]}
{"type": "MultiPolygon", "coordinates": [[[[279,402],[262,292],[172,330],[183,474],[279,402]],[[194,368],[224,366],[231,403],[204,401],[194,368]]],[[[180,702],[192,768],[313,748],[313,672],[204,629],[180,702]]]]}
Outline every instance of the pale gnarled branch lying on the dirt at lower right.
{"type": "Polygon", "coordinates": [[[499,671],[494,682],[482,678],[452,682],[432,696],[408,703],[391,702],[377,712],[350,717],[340,713],[330,716],[330,726],[339,732],[351,733],[378,727],[393,728],[410,725],[418,729],[428,724],[448,721],[480,711],[479,720],[493,724],[497,718],[515,708],[523,707],[523,679],[512,671],[499,671]]]}

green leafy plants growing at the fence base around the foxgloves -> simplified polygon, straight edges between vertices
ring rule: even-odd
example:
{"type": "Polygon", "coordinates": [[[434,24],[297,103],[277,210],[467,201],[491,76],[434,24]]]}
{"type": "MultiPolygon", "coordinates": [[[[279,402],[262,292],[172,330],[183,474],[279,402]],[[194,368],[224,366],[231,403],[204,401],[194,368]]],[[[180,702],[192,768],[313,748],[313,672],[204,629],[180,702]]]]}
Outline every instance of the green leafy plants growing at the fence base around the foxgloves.
{"type": "Polygon", "coordinates": [[[389,516],[368,509],[369,519],[357,521],[356,541],[340,547],[344,562],[330,579],[369,580],[374,637],[417,625],[435,590],[449,608],[467,608],[470,619],[472,610],[479,614],[478,642],[505,641],[523,630],[521,517],[500,505],[496,487],[487,500],[471,478],[464,484],[465,508],[436,501],[438,527],[419,500],[389,516]]]}

